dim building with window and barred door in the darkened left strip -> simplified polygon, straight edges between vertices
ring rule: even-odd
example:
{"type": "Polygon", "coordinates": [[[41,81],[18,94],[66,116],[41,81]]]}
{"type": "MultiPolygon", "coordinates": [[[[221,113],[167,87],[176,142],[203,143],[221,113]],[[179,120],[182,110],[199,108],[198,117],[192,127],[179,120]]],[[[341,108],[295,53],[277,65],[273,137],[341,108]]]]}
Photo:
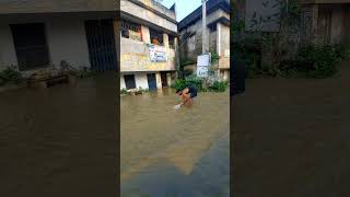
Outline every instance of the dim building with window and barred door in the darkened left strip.
{"type": "MultiPolygon", "coordinates": [[[[0,1],[0,69],[58,66],[116,70],[116,1],[0,1]]],[[[116,36],[117,35],[117,36],[116,36]]]]}

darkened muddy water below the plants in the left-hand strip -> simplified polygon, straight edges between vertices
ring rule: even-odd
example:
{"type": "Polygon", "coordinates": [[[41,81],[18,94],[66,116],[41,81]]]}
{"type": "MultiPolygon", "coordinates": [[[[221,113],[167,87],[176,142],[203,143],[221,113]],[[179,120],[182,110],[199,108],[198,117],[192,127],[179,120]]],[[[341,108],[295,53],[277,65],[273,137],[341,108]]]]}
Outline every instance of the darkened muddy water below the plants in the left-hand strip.
{"type": "Polygon", "coordinates": [[[0,93],[0,196],[116,196],[116,80],[0,93]]]}

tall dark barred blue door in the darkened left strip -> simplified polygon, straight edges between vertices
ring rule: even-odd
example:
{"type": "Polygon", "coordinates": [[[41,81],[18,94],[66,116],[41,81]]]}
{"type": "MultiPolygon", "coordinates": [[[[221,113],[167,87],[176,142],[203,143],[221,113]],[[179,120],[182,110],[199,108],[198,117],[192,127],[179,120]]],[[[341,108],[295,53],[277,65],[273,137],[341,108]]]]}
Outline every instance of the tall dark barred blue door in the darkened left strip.
{"type": "Polygon", "coordinates": [[[85,21],[85,31],[92,70],[117,70],[113,20],[85,21]]]}

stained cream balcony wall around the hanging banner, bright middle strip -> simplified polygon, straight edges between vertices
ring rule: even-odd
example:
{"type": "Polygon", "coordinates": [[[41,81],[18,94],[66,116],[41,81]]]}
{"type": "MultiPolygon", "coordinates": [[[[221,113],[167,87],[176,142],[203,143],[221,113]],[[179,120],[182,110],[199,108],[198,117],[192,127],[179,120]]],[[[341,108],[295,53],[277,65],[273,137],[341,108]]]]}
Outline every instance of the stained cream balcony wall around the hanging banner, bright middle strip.
{"type": "Polygon", "coordinates": [[[120,38],[120,72],[176,70],[175,50],[165,48],[167,61],[152,62],[145,43],[120,38]]]}

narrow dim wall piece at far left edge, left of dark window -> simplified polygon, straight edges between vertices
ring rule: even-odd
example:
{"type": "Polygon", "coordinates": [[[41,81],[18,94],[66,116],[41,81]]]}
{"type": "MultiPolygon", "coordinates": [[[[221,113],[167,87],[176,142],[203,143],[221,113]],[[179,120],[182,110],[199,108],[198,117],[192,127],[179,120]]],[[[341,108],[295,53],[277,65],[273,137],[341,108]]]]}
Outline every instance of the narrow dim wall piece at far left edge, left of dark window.
{"type": "Polygon", "coordinates": [[[18,65],[12,33],[9,24],[0,23],[0,70],[11,65],[18,65]]]}

